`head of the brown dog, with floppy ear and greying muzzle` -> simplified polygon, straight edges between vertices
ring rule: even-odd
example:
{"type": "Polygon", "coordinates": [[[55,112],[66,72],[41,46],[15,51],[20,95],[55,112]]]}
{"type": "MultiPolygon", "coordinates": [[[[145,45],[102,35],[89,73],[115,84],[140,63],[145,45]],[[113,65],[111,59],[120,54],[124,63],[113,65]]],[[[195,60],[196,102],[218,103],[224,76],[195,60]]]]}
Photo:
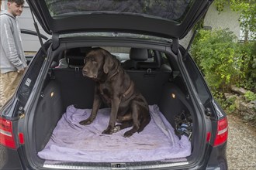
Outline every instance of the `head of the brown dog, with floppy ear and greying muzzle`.
{"type": "Polygon", "coordinates": [[[93,48],[85,56],[85,66],[83,67],[83,76],[93,79],[99,79],[103,73],[109,73],[113,66],[111,54],[102,48],[93,48]]]}

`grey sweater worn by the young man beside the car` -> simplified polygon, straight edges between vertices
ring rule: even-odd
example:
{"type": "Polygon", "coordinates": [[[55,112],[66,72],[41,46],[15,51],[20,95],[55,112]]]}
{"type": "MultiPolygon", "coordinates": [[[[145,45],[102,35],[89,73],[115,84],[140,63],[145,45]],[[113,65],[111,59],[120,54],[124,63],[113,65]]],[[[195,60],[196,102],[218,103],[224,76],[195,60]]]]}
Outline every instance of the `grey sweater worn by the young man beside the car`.
{"type": "Polygon", "coordinates": [[[0,15],[0,71],[7,73],[24,69],[26,58],[19,23],[9,12],[0,15]]]}

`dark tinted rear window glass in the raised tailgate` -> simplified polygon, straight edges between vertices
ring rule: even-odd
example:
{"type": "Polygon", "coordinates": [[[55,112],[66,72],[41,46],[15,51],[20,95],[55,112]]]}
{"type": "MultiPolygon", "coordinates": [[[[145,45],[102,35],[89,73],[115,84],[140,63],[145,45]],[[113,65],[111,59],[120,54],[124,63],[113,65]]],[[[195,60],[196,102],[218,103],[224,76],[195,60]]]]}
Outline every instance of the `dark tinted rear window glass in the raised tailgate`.
{"type": "Polygon", "coordinates": [[[45,0],[50,15],[115,13],[182,22],[194,0],[45,0]]]}

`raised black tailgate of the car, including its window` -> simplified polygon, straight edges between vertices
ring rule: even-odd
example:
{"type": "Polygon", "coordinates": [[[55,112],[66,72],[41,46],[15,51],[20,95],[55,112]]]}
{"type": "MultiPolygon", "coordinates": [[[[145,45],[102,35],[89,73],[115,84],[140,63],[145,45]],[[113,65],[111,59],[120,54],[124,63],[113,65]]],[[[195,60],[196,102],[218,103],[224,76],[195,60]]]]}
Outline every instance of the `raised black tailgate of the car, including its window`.
{"type": "Polygon", "coordinates": [[[213,0],[27,0],[45,32],[130,32],[182,39],[213,0]]]}

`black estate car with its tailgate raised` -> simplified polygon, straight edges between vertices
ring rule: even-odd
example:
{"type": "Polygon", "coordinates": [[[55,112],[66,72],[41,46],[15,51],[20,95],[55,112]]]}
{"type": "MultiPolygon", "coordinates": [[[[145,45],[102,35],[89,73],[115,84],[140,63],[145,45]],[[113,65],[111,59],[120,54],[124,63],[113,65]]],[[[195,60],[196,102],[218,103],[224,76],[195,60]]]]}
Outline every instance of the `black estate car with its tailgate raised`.
{"type": "Polygon", "coordinates": [[[27,2],[52,38],[2,107],[0,168],[227,169],[227,116],[179,43],[213,0],[27,2]],[[81,72],[95,47],[119,60],[149,104],[150,123],[130,138],[102,134],[104,104],[79,124],[92,110],[95,81],[81,72]]]}

